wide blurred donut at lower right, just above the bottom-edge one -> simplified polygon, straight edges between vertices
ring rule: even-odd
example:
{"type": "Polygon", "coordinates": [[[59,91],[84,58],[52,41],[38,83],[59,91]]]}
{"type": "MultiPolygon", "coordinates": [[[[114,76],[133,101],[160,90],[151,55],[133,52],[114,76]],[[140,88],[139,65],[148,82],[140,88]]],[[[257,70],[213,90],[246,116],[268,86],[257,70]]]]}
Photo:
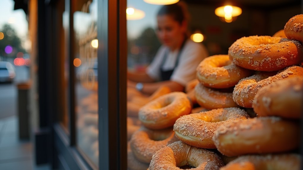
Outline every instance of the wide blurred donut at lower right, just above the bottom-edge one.
{"type": "Polygon", "coordinates": [[[300,124],[279,117],[255,117],[222,124],[214,132],[218,151],[226,156],[277,153],[300,145],[300,124]]]}

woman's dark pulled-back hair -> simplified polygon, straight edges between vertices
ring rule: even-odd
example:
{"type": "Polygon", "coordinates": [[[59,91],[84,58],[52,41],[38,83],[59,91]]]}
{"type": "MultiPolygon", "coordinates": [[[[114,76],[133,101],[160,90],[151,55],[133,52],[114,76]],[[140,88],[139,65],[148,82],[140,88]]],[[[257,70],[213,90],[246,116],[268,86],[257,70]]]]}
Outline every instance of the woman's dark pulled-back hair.
{"type": "Polygon", "coordinates": [[[163,5],[158,11],[157,16],[170,15],[177,21],[179,24],[182,24],[183,21],[188,21],[189,15],[187,11],[186,4],[184,2],[178,2],[171,5],[163,5]]]}

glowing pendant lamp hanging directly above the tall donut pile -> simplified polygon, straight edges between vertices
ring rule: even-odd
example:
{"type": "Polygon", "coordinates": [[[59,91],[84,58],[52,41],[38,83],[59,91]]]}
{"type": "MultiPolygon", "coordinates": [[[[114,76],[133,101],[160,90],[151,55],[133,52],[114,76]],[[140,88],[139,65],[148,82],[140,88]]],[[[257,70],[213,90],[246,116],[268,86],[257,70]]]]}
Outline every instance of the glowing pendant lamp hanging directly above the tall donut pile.
{"type": "Polygon", "coordinates": [[[233,18],[242,14],[242,9],[236,6],[226,5],[215,9],[215,14],[225,22],[232,22],[233,18]]]}

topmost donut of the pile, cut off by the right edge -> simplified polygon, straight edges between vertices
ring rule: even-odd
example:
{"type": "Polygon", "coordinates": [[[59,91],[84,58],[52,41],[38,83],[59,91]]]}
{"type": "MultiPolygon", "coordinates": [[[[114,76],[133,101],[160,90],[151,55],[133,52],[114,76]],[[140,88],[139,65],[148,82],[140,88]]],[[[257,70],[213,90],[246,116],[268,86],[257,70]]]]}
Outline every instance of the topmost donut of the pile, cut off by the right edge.
{"type": "Polygon", "coordinates": [[[285,35],[288,39],[298,40],[303,43],[303,14],[296,15],[287,21],[284,26],[285,35]]]}

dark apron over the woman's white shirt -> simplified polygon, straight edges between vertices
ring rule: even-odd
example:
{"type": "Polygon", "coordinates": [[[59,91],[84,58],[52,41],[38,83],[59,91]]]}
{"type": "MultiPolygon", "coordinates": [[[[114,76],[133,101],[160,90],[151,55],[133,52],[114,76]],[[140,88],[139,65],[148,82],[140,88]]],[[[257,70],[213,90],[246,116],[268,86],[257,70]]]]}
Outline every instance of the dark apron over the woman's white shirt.
{"type": "Polygon", "coordinates": [[[180,48],[179,53],[177,55],[177,59],[176,59],[174,68],[171,69],[171,70],[165,70],[164,71],[163,70],[163,65],[164,65],[164,63],[166,61],[166,58],[167,58],[167,55],[168,55],[168,50],[165,51],[165,54],[164,54],[164,57],[162,59],[162,63],[161,63],[161,66],[160,66],[160,76],[161,76],[160,78],[161,78],[161,81],[169,80],[170,77],[171,77],[171,75],[172,75],[172,73],[174,72],[174,69],[178,66],[179,59],[180,59],[180,54],[181,54],[181,52],[183,50],[183,47],[184,47],[184,44],[185,44],[186,40],[187,40],[187,38],[184,39],[184,41],[183,41],[183,43],[181,45],[181,48],[180,48]]]}

